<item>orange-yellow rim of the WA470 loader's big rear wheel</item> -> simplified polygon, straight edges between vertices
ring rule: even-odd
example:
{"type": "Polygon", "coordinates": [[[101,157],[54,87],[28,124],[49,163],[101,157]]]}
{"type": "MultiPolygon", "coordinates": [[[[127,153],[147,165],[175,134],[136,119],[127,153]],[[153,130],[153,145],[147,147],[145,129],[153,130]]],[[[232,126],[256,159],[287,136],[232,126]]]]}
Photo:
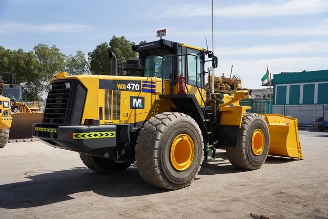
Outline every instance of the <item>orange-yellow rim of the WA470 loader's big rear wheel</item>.
{"type": "Polygon", "coordinates": [[[193,162],[195,146],[191,137],[187,134],[178,135],[171,146],[170,161],[172,166],[178,170],[186,170],[193,162]]]}

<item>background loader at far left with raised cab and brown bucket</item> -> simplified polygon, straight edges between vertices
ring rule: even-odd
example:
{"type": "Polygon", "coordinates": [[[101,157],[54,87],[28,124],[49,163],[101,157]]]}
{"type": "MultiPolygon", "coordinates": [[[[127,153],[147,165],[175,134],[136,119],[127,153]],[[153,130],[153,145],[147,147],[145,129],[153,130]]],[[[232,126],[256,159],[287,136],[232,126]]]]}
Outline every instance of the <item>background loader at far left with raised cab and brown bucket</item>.
{"type": "MultiPolygon", "coordinates": [[[[13,73],[10,73],[10,81],[13,82],[13,73]]],[[[32,138],[31,128],[33,123],[42,122],[43,112],[40,112],[39,102],[34,101],[29,107],[23,101],[22,85],[1,83],[1,95],[10,99],[10,114],[12,124],[9,140],[32,138]]]]}

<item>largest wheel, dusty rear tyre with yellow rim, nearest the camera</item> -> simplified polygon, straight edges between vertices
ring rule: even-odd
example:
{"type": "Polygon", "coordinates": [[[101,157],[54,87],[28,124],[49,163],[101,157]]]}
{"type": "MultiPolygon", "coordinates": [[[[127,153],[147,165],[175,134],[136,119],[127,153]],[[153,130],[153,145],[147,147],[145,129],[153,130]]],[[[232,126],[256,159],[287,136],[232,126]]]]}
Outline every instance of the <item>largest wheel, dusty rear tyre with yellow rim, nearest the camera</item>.
{"type": "Polygon", "coordinates": [[[135,149],[141,177],[168,190],[189,186],[203,158],[203,137],[195,120],[183,113],[165,112],[151,117],[141,128],[135,149]]]}

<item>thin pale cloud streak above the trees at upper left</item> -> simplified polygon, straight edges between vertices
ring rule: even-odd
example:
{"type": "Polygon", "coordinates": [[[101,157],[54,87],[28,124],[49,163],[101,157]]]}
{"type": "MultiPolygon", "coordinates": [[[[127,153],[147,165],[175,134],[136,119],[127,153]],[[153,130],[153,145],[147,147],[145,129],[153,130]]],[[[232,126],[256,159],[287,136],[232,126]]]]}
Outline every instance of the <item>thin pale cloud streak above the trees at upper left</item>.
{"type": "Polygon", "coordinates": [[[55,23],[55,24],[27,24],[0,21],[0,33],[70,33],[85,32],[92,27],[80,24],[55,23]]]}

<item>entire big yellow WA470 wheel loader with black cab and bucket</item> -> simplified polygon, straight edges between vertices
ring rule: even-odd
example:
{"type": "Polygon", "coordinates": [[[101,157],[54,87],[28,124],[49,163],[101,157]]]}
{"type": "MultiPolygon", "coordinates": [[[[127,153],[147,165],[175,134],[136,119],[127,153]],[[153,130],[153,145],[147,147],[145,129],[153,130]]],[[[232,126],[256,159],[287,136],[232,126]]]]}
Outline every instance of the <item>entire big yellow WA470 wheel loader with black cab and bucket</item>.
{"type": "Polygon", "coordinates": [[[303,158],[295,118],[247,113],[239,105],[249,98],[244,90],[206,98],[204,65],[217,67],[213,52],[167,39],[133,50],[139,58],[124,63],[125,76],[112,52],[112,75],[56,74],[33,137],[78,152],[99,173],[136,162],[146,182],[169,190],[190,185],[216,148],[246,170],[261,168],[268,155],[303,158]]]}

